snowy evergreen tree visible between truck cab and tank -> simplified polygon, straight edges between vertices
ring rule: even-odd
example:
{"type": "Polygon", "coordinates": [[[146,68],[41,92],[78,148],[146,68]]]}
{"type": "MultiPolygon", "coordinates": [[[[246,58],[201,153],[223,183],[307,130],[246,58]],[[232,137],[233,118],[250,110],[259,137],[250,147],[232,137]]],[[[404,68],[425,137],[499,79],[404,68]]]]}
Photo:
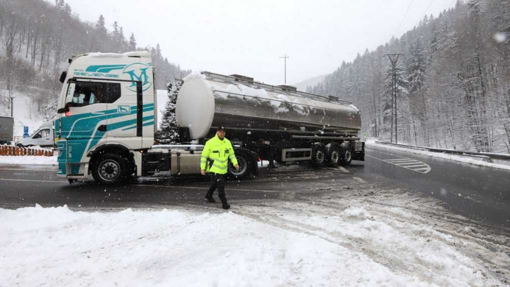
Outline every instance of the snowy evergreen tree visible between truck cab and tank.
{"type": "Polygon", "coordinates": [[[165,112],[161,120],[157,138],[161,143],[170,144],[179,141],[179,133],[177,133],[177,121],[175,118],[175,107],[177,102],[177,94],[181,89],[182,82],[175,82],[174,85],[167,85],[168,100],[165,105],[165,112]]]}

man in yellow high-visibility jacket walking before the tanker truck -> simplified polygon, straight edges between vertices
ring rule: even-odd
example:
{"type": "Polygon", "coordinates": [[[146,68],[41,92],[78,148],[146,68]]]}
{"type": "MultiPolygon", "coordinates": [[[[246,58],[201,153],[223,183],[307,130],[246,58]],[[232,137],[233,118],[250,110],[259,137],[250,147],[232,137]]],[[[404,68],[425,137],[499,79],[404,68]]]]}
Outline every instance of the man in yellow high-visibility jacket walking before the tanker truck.
{"type": "Polygon", "coordinates": [[[213,184],[206,194],[207,201],[216,202],[213,193],[218,189],[221,206],[226,210],[230,208],[230,205],[225,197],[225,179],[223,175],[227,172],[228,160],[232,162],[236,169],[239,169],[232,144],[225,138],[225,127],[220,125],[214,138],[208,140],[203,147],[200,158],[200,173],[202,175],[212,174],[213,184]]]}

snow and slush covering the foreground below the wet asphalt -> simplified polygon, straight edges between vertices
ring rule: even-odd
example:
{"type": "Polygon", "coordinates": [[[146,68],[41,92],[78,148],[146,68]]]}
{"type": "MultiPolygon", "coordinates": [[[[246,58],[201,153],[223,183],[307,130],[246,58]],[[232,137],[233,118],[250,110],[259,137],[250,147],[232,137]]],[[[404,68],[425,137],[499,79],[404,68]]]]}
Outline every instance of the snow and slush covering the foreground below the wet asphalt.
{"type": "Polygon", "coordinates": [[[208,206],[0,210],[0,285],[510,283],[508,237],[452,217],[434,199],[367,186],[237,202],[230,212],[208,206]]]}

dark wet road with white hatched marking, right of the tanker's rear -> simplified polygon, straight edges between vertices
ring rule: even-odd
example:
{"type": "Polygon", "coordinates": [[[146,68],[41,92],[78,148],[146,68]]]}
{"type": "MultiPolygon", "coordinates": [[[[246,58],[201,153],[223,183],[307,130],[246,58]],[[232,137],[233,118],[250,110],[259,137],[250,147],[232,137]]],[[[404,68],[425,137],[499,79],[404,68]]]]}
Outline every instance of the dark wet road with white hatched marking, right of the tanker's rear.
{"type": "Polygon", "coordinates": [[[377,146],[368,146],[360,171],[438,198],[480,222],[510,227],[510,171],[377,146]]]}

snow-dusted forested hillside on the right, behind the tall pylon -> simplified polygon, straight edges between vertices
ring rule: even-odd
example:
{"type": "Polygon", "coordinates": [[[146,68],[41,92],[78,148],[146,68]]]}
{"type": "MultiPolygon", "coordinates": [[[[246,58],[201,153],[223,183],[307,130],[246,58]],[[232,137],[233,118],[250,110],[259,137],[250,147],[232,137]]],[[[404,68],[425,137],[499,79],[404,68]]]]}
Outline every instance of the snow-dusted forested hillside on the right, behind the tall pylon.
{"type": "Polygon", "coordinates": [[[343,62],[308,91],[352,101],[366,135],[390,140],[396,69],[398,141],[510,152],[510,1],[457,1],[400,38],[343,62]]]}

